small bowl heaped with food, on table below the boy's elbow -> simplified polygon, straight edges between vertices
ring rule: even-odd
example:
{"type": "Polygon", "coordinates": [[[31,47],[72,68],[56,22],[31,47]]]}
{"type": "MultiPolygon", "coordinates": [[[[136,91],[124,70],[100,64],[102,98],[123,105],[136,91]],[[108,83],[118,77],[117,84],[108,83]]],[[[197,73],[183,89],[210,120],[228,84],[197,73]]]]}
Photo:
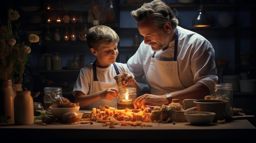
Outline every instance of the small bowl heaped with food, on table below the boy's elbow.
{"type": "Polygon", "coordinates": [[[78,112],[79,109],[80,109],[80,106],[78,106],[78,107],[69,107],[69,108],[50,106],[49,109],[52,111],[52,114],[54,115],[54,117],[56,117],[59,120],[62,120],[63,114],[65,114],[67,112],[72,112],[72,111],[78,112]]]}

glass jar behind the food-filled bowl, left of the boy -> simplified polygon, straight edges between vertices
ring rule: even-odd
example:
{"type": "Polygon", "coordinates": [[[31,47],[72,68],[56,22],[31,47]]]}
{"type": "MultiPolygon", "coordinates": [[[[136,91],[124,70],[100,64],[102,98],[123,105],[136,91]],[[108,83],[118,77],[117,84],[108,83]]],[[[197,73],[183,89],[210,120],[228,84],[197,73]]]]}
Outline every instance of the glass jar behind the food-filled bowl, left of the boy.
{"type": "Polygon", "coordinates": [[[54,97],[63,97],[61,87],[45,87],[45,95],[43,97],[43,107],[46,111],[49,110],[49,107],[52,106],[52,100],[54,97]]]}

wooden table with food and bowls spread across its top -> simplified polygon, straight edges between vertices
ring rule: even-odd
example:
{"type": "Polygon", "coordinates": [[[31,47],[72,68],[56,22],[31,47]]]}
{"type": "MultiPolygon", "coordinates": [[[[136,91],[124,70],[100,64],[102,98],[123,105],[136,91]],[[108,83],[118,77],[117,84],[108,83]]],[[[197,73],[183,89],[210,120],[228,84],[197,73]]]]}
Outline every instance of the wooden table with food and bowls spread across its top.
{"type": "MultiPolygon", "coordinates": [[[[40,120],[35,121],[42,123],[40,120]]],[[[58,124],[58,125],[14,125],[14,123],[0,124],[0,139],[36,140],[51,139],[58,141],[154,141],[165,140],[194,140],[208,141],[243,141],[255,142],[256,128],[247,120],[233,120],[225,124],[211,123],[205,126],[195,126],[183,123],[150,123],[146,126],[121,126],[115,128],[103,126],[103,123],[87,124],[58,124]]]]}

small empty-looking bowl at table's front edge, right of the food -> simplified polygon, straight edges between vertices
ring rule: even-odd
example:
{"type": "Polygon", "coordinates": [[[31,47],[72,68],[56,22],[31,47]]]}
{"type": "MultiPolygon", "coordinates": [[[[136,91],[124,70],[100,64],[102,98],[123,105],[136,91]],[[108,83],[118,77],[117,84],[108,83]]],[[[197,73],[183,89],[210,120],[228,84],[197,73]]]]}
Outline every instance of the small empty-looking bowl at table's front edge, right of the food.
{"type": "Polygon", "coordinates": [[[193,125],[210,124],[216,113],[214,112],[185,112],[186,120],[193,125]]]}

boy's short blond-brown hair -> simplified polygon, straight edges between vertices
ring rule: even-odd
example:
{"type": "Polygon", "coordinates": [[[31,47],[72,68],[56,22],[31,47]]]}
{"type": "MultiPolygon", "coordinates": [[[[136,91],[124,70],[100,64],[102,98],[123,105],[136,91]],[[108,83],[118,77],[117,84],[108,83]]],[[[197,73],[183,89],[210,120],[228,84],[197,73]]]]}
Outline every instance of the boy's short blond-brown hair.
{"type": "Polygon", "coordinates": [[[89,48],[94,48],[95,50],[97,50],[101,44],[116,44],[119,42],[117,33],[105,25],[90,28],[86,38],[89,48]]]}

